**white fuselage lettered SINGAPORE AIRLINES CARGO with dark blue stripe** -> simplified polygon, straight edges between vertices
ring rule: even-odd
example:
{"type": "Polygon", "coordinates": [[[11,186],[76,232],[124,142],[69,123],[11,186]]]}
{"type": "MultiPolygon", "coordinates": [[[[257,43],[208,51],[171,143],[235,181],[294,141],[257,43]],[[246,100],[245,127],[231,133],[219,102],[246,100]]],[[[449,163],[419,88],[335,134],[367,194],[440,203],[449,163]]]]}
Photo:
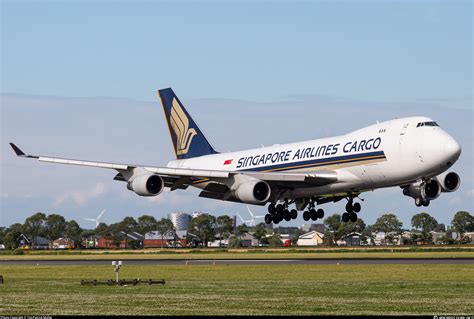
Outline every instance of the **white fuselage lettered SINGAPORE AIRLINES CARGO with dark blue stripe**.
{"type": "MultiPolygon", "coordinates": [[[[406,185],[441,174],[459,158],[459,144],[427,117],[377,123],[346,135],[175,160],[168,167],[222,171],[336,171],[338,182],[291,190],[294,198],[406,185]]],[[[196,183],[203,188],[207,183],[196,183]]]]}

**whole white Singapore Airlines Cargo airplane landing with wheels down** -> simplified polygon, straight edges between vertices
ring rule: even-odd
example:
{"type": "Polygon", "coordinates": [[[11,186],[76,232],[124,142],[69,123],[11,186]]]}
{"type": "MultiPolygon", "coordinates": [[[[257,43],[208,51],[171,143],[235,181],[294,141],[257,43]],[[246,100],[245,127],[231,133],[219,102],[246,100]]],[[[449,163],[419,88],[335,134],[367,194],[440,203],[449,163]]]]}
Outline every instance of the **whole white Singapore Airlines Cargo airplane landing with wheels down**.
{"type": "Polygon", "coordinates": [[[268,224],[296,219],[298,211],[304,211],[306,221],[323,218],[317,206],[343,199],[342,220],[355,222],[359,195],[378,188],[400,186],[417,206],[428,206],[442,192],[459,188],[459,175],[448,170],[461,147],[427,117],[380,122],[331,138],[219,153],[171,88],[159,90],[158,96],[176,155],[166,167],[26,155],[10,145],[19,157],[115,170],[114,180],[140,196],[192,186],[204,198],[269,204],[268,224]]]}

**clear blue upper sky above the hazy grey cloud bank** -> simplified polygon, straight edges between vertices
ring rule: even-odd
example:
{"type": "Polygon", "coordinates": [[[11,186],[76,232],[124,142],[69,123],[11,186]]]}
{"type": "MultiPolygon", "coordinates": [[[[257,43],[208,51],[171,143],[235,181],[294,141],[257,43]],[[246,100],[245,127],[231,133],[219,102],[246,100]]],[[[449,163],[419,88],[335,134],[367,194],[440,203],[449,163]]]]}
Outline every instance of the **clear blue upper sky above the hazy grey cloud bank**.
{"type": "Polygon", "coordinates": [[[2,91],[467,98],[470,1],[2,1],[2,91]]]}

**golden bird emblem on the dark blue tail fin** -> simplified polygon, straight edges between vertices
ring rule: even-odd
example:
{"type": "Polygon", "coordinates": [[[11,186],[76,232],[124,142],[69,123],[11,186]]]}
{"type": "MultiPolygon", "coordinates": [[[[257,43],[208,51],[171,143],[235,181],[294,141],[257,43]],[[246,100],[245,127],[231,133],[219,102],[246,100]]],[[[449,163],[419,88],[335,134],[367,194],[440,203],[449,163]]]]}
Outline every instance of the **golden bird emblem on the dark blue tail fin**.
{"type": "Polygon", "coordinates": [[[173,98],[170,123],[176,134],[176,155],[187,154],[191,141],[197,133],[195,129],[189,128],[189,119],[176,98],[173,98]]]}

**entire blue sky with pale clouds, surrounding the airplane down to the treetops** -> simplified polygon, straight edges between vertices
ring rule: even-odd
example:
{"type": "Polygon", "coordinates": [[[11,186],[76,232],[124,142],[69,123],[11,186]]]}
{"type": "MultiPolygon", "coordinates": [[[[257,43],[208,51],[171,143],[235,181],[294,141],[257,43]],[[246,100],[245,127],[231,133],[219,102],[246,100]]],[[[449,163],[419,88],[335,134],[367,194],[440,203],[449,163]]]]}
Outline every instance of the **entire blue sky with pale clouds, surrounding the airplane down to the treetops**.
{"type": "MultiPolygon", "coordinates": [[[[27,163],[8,149],[163,165],[173,155],[156,90],[168,86],[221,151],[432,116],[463,146],[463,184],[428,212],[449,223],[472,211],[470,1],[2,1],[1,11],[0,225],[36,210],[79,220],[106,208],[106,222],[246,214],[197,192],[139,198],[108,171],[27,163]]],[[[406,227],[419,210],[395,188],[364,205],[367,222],[391,210],[406,227]]]]}

